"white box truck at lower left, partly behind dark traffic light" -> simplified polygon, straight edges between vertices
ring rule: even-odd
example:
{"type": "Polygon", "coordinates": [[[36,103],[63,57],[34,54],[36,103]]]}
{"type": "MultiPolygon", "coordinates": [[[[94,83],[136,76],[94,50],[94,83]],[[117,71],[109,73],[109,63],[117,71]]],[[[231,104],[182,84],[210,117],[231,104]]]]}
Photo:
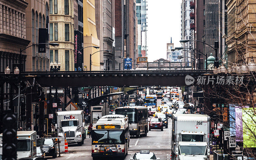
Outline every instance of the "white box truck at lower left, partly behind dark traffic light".
{"type": "MultiPolygon", "coordinates": [[[[3,142],[3,133],[0,134],[0,141],[3,142]]],[[[0,153],[2,154],[2,151],[0,153]]],[[[17,159],[35,156],[36,131],[17,131],[17,159]]]]}

